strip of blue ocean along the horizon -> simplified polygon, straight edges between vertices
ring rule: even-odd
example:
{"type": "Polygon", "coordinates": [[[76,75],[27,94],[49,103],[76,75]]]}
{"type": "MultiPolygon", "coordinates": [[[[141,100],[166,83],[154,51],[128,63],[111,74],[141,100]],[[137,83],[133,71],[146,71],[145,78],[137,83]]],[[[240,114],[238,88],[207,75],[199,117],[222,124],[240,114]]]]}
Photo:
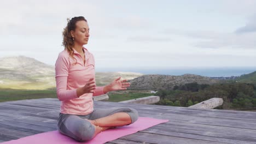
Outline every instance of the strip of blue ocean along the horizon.
{"type": "Polygon", "coordinates": [[[237,67],[237,68],[175,68],[175,69],[139,69],[139,68],[111,68],[98,69],[100,72],[127,71],[142,74],[161,74],[161,75],[183,75],[195,74],[208,77],[230,77],[249,74],[256,71],[256,67],[237,67]]]}

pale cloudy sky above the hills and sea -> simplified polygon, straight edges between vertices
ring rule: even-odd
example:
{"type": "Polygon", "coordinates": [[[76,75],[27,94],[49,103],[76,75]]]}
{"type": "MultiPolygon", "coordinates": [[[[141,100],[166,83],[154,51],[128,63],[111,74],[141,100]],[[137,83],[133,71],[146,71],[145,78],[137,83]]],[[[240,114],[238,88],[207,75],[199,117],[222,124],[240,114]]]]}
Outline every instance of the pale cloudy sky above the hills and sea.
{"type": "Polygon", "coordinates": [[[54,65],[84,16],[96,70],[255,67],[256,1],[3,1],[0,57],[54,65]]]}

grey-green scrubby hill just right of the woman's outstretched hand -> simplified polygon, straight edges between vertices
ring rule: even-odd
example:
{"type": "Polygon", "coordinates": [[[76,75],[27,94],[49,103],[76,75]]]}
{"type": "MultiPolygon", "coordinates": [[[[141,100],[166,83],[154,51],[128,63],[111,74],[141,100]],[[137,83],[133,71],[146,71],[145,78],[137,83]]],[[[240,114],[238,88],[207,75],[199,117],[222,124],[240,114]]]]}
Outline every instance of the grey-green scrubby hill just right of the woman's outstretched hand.
{"type": "Polygon", "coordinates": [[[206,76],[185,74],[181,76],[172,75],[143,75],[130,80],[129,89],[172,89],[174,86],[184,85],[185,83],[197,82],[199,84],[212,85],[220,80],[211,79],[206,76]]]}

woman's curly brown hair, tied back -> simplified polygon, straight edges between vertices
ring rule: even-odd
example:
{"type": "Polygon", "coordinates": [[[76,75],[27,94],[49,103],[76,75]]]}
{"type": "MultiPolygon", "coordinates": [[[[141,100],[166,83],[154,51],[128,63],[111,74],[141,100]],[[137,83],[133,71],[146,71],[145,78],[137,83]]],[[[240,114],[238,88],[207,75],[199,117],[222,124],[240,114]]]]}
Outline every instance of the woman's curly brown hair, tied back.
{"type": "Polygon", "coordinates": [[[62,35],[63,35],[62,45],[65,47],[65,49],[67,49],[67,51],[69,52],[69,55],[72,58],[74,58],[73,56],[74,50],[72,49],[72,47],[74,46],[74,40],[70,32],[75,30],[75,27],[76,27],[75,24],[78,21],[87,22],[87,20],[83,16],[73,17],[71,20],[67,19],[67,22],[68,22],[67,26],[63,29],[63,32],[62,32],[62,35]]]}

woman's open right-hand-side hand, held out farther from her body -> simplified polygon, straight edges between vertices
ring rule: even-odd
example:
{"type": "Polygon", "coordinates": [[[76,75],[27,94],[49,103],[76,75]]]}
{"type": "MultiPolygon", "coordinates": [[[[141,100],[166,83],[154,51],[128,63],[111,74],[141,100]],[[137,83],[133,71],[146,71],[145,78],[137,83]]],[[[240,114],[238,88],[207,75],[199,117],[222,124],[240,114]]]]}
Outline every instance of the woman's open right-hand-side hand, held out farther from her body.
{"type": "Polygon", "coordinates": [[[115,79],[108,85],[109,91],[118,91],[118,90],[126,90],[127,87],[130,87],[131,83],[126,82],[127,80],[120,80],[121,77],[115,79]]]}

